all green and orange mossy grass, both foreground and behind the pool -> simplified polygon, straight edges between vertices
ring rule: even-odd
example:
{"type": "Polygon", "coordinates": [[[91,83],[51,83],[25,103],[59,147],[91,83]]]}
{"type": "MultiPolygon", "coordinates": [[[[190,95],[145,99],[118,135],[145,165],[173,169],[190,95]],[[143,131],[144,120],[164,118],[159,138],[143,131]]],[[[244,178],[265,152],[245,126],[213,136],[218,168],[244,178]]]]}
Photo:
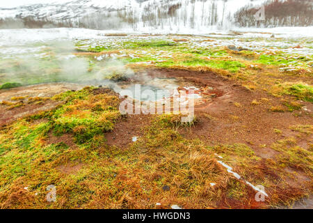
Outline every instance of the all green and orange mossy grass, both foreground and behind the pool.
{"type": "MultiPolygon", "coordinates": [[[[284,47],[275,52],[262,49],[234,52],[225,46],[201,44],[223,38],[205,40],[188,36],[186,40],[170,36],[112,38],[102,43],[79,40],[74,54],[88,61],[82,76],[86,78],[101,71],[104,78],[120,81],[123,78],[120,72],[111,72],[105,66],[114,60],[134,70],[212,70],[216,75],[236,80],[249,92],[261,90],[268,93],[268,98],[275,97],[270,102],[267,98],[251,98],[251,107],[234,102],[237,109],[263,106],[274,115],[296,114],[303,107],[300,100],[312,102],[312,56],[290,54],[284,47]]],[[[266,49],[271,49],[269,44],[266,49]]],[[[310,47],[312,43],[303,44],[310,47]]],[[[46,56],[35,67],[29,66],[27,60],[1,60],[0,83],[76,81],[62,76],[61,60],[54,50],[44,52],[46,56]]],[[[290,205],[312,193],[307,189],[312,188],[312,183],[307,187],[284,183],[292,175],[284,171],[286,168],[301,171],[312,179],[312,148],[302,148],[293,138],[275,141],[271,148],[277,154],[264,160],[248,143],[209,146],[200,139],[186,139],[179,129],[193,128],[198,120],[183,125],[179,116],[167,114],[153,116],[152,124],[143,126],[143,136],[127,148],[110,146],[105,133],[127,117],[118,112],[116,95],[95,95],[93,90],[56,95],[51,100],[58,100],[61,105],[55,109],[21,118],[1,129],[1,208],[160,208],[156,203],[161,203],[161,208],[170,208],[172,204],[183,208],[268,208],[290,205]],[[66,137],[71,143],[53,141],[54,137],[66,137]],[[256,202],[255,191],[244,180],[228,173],[217,162],[218,156],[253,185],[268,188],[270,196],[266,202],[256,202]],[[56,202],[45,199],[48,185],[56,185],[56,202]],[[168,187],[170,190],[163,190],[168,187]]],[[[24,99],[11,98],[13,102],[1,103],[14,109],[23,106],[19,100],[24,99]]],[[[28,98],[29,103],[43,100],[28,98]]],[[[209,114],[207,118],[213,119],[209,114]]],[[[240,121],[241,116],[232,115],[230,119],[233,123],[240,121]]],[[[310,136],[312,125],[292,125],[290,130],[310,136]]],[[[273,134],[282,134],[282,130],[275,129],[273,134]]]]}

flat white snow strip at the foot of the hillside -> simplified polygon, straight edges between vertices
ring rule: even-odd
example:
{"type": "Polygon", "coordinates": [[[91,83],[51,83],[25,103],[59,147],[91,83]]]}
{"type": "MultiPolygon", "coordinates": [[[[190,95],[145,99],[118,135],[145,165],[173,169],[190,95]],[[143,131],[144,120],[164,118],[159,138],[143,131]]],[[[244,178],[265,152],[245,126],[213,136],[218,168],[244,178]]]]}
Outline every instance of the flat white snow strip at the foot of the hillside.
{"type": "MultiPolygon", "coordinates": [[[[147,31],[149,31],[147,29],[147,31]]],[[[276,28],[232,28],[229,30],[219,30],[212,26],[207,30],[182,30],[179,32],[164,31],[164,30],[151,30],[150,34],[192,34],[194,36],[232,36],[232,31],[240,31],[242,35],[239,38],[253,38],[263,37],[270,38],[272,33],[277,38],[313,38],[313,26],[306,27],[276,27],[276,28]]],[[[72,40],[74,38],[90,38],[90,39],[103,39],[107,38],[106,33],[127,33],[127,34],[141,34],[145,31],[123,30],[93,30],[93,29],[0,29],[0,47],[4,45],[24,45],[25,43],[46,42],[52,40],[72,40]]]]}

